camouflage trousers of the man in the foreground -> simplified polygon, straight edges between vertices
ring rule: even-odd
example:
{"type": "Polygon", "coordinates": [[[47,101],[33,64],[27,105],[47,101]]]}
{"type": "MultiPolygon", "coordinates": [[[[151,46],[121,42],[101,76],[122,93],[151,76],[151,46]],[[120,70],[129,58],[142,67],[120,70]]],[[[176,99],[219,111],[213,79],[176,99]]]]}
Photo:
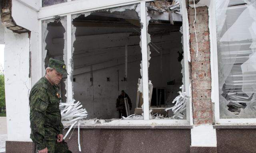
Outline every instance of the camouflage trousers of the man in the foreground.
{"type": "MultiPolygon", "coordinates": [[[[53,141],[47,141],[47,149],[48,153],[72,153],[70,150],[68,150],[68,145],[64,140],[62,142],[53,141]]],[[[36,153],[38,153],[38,149],[36,147],[36,153]]]]}

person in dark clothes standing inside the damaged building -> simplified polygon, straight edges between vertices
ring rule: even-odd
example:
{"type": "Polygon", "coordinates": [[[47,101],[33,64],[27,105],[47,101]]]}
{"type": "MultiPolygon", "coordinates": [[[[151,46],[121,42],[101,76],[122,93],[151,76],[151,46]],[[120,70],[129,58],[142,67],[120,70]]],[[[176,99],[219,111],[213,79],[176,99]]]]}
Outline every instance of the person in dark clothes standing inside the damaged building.
{"type": "Polygon", "coordinates": [[[128,94],[126,94],[124,92],[124,90],[122,90],[121,94],[118,96],[118,98],[116,99],[116,110],[119,113],[119,118],[122,118],[122,116],[127,117],[127,113],[126,113],[126,107],[125,107],[125,102],[124,102],[124,98],[127,98],[127,102],[128,102],[128,109],[132,110],[132,102],[130,97],[128,96],[128,94]]]}

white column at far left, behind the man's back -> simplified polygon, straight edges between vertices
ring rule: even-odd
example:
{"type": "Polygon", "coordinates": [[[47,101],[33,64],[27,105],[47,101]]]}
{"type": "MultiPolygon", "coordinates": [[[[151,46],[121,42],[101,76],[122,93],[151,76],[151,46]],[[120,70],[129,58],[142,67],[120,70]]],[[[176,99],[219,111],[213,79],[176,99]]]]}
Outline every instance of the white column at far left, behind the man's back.
{"type": "Polygon", "coordinates": [[[31,141],[29,120],[30,39],[5,29],[4,80],[8,141],[31,141]]]}

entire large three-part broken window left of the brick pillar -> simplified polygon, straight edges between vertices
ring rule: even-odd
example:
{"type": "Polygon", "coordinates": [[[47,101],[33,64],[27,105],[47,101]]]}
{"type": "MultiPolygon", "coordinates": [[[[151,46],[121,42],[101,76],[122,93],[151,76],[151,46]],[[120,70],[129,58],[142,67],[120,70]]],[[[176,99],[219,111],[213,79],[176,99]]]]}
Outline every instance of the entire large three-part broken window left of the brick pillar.
{"type": "Polygon", "coordinates": [[[71,39],[66,17],[42,21],[44,68],[54,58],[69,72],[60,84],[62,102],[80,101],[93,119],[88,122],[97,118],[94,124],[118,118],[186,121],[181,6],[161,0],[74,14],[68,16],[71,39]]]}

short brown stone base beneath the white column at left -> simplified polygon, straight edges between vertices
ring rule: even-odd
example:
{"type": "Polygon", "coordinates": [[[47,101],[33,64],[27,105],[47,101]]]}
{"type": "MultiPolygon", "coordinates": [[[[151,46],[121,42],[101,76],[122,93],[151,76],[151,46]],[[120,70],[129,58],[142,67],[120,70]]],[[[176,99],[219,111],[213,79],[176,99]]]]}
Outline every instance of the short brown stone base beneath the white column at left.
{"type": "Polygon", "coordinates": [[[6,141],[6,153],[34,153],[35,146],[33,142],[6,141]]]}

